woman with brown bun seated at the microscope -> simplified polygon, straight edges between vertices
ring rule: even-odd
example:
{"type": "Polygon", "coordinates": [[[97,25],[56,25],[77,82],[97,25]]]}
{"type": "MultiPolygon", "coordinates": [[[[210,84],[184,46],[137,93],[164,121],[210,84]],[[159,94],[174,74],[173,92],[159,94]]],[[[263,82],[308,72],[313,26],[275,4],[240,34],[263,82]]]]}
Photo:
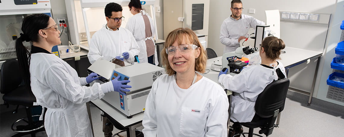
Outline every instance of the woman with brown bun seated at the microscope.
{"type": "Polygon", "coordinates": [[[230,119],[235,123],[232,136],[242,133],[239,122],[254,121],[255,102],[265,87],[273,80],[287,77],[283,64],[277,61],[280,59],[281,50],[285,47],[282,39],[273,36],[266,37],[259,49],[260,65],[246,67],[235,76],[226,74],[228,69],[220,72],[218,82],[226,89],[233,91],[230,119]]]}

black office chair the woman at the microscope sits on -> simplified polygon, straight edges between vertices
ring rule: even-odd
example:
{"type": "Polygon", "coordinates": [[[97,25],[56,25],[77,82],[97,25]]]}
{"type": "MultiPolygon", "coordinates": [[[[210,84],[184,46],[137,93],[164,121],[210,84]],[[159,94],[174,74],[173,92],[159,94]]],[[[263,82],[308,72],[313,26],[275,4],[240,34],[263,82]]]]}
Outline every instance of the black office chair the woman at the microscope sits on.
{"type": "MultiPolygon", "coordinates": [[[[253,122],[240,123],[248,127],[249,132],[241,134],[248,134],[248,137],[252,137],[253,135],[262,137],[253,133],[254,128],[257,127],[261,128],[259,134],[265,134],[266,136],[272,134],[273,125],[276,122],[277,116],[284,109],[289,83],[289,79],[280,79],[265,87],[256,100],[256,114],[252,120],[253,122]]],[[[238,137],[241,134],[236,134],[233,137],[238,137]]]]}

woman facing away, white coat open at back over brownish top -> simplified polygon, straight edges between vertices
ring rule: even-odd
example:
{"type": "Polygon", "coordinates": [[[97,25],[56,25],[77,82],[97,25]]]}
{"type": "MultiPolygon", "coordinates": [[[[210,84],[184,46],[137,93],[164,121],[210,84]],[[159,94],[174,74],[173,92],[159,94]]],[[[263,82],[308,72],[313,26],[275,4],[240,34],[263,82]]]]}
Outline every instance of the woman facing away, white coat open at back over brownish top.
{"type": "Polygon", "coordinates": [[[130,13],[134,16],[129,18],[126,29],[132,33],[140,47],[140,63],[148,62],[158,65],[158,55],[153,40],[155,27],[152,18],[142,10],[140,0],[131,0],[128,6],[130,13]]]}

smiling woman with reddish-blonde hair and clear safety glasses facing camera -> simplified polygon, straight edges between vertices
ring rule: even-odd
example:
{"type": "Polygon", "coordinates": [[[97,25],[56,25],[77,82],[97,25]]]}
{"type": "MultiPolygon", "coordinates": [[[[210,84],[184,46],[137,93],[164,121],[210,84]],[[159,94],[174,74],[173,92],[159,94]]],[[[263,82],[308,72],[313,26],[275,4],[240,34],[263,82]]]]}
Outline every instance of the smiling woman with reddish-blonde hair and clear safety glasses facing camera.
{"type": "Polygon", "coordinates": [[[190,28],[170,32],[161,52],[166,68],[152,85],[142,120],[145,137],[227,137],[224,89],[198,73],[206,53],[190,28]],[[197,73],[197,72],[198,73],[197,73]]]}

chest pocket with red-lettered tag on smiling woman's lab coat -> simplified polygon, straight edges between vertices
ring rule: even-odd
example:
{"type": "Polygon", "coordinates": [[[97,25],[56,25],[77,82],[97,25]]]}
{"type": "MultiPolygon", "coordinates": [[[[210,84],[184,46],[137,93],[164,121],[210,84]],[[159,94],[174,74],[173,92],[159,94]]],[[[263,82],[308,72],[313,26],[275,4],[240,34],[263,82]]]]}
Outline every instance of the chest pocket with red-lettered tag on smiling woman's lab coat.
{"type": "Polygon", "coordinates": [[[184,136],[200,136],[204,132],[208,110],[182,107],[180,132],[184,136]]]}

